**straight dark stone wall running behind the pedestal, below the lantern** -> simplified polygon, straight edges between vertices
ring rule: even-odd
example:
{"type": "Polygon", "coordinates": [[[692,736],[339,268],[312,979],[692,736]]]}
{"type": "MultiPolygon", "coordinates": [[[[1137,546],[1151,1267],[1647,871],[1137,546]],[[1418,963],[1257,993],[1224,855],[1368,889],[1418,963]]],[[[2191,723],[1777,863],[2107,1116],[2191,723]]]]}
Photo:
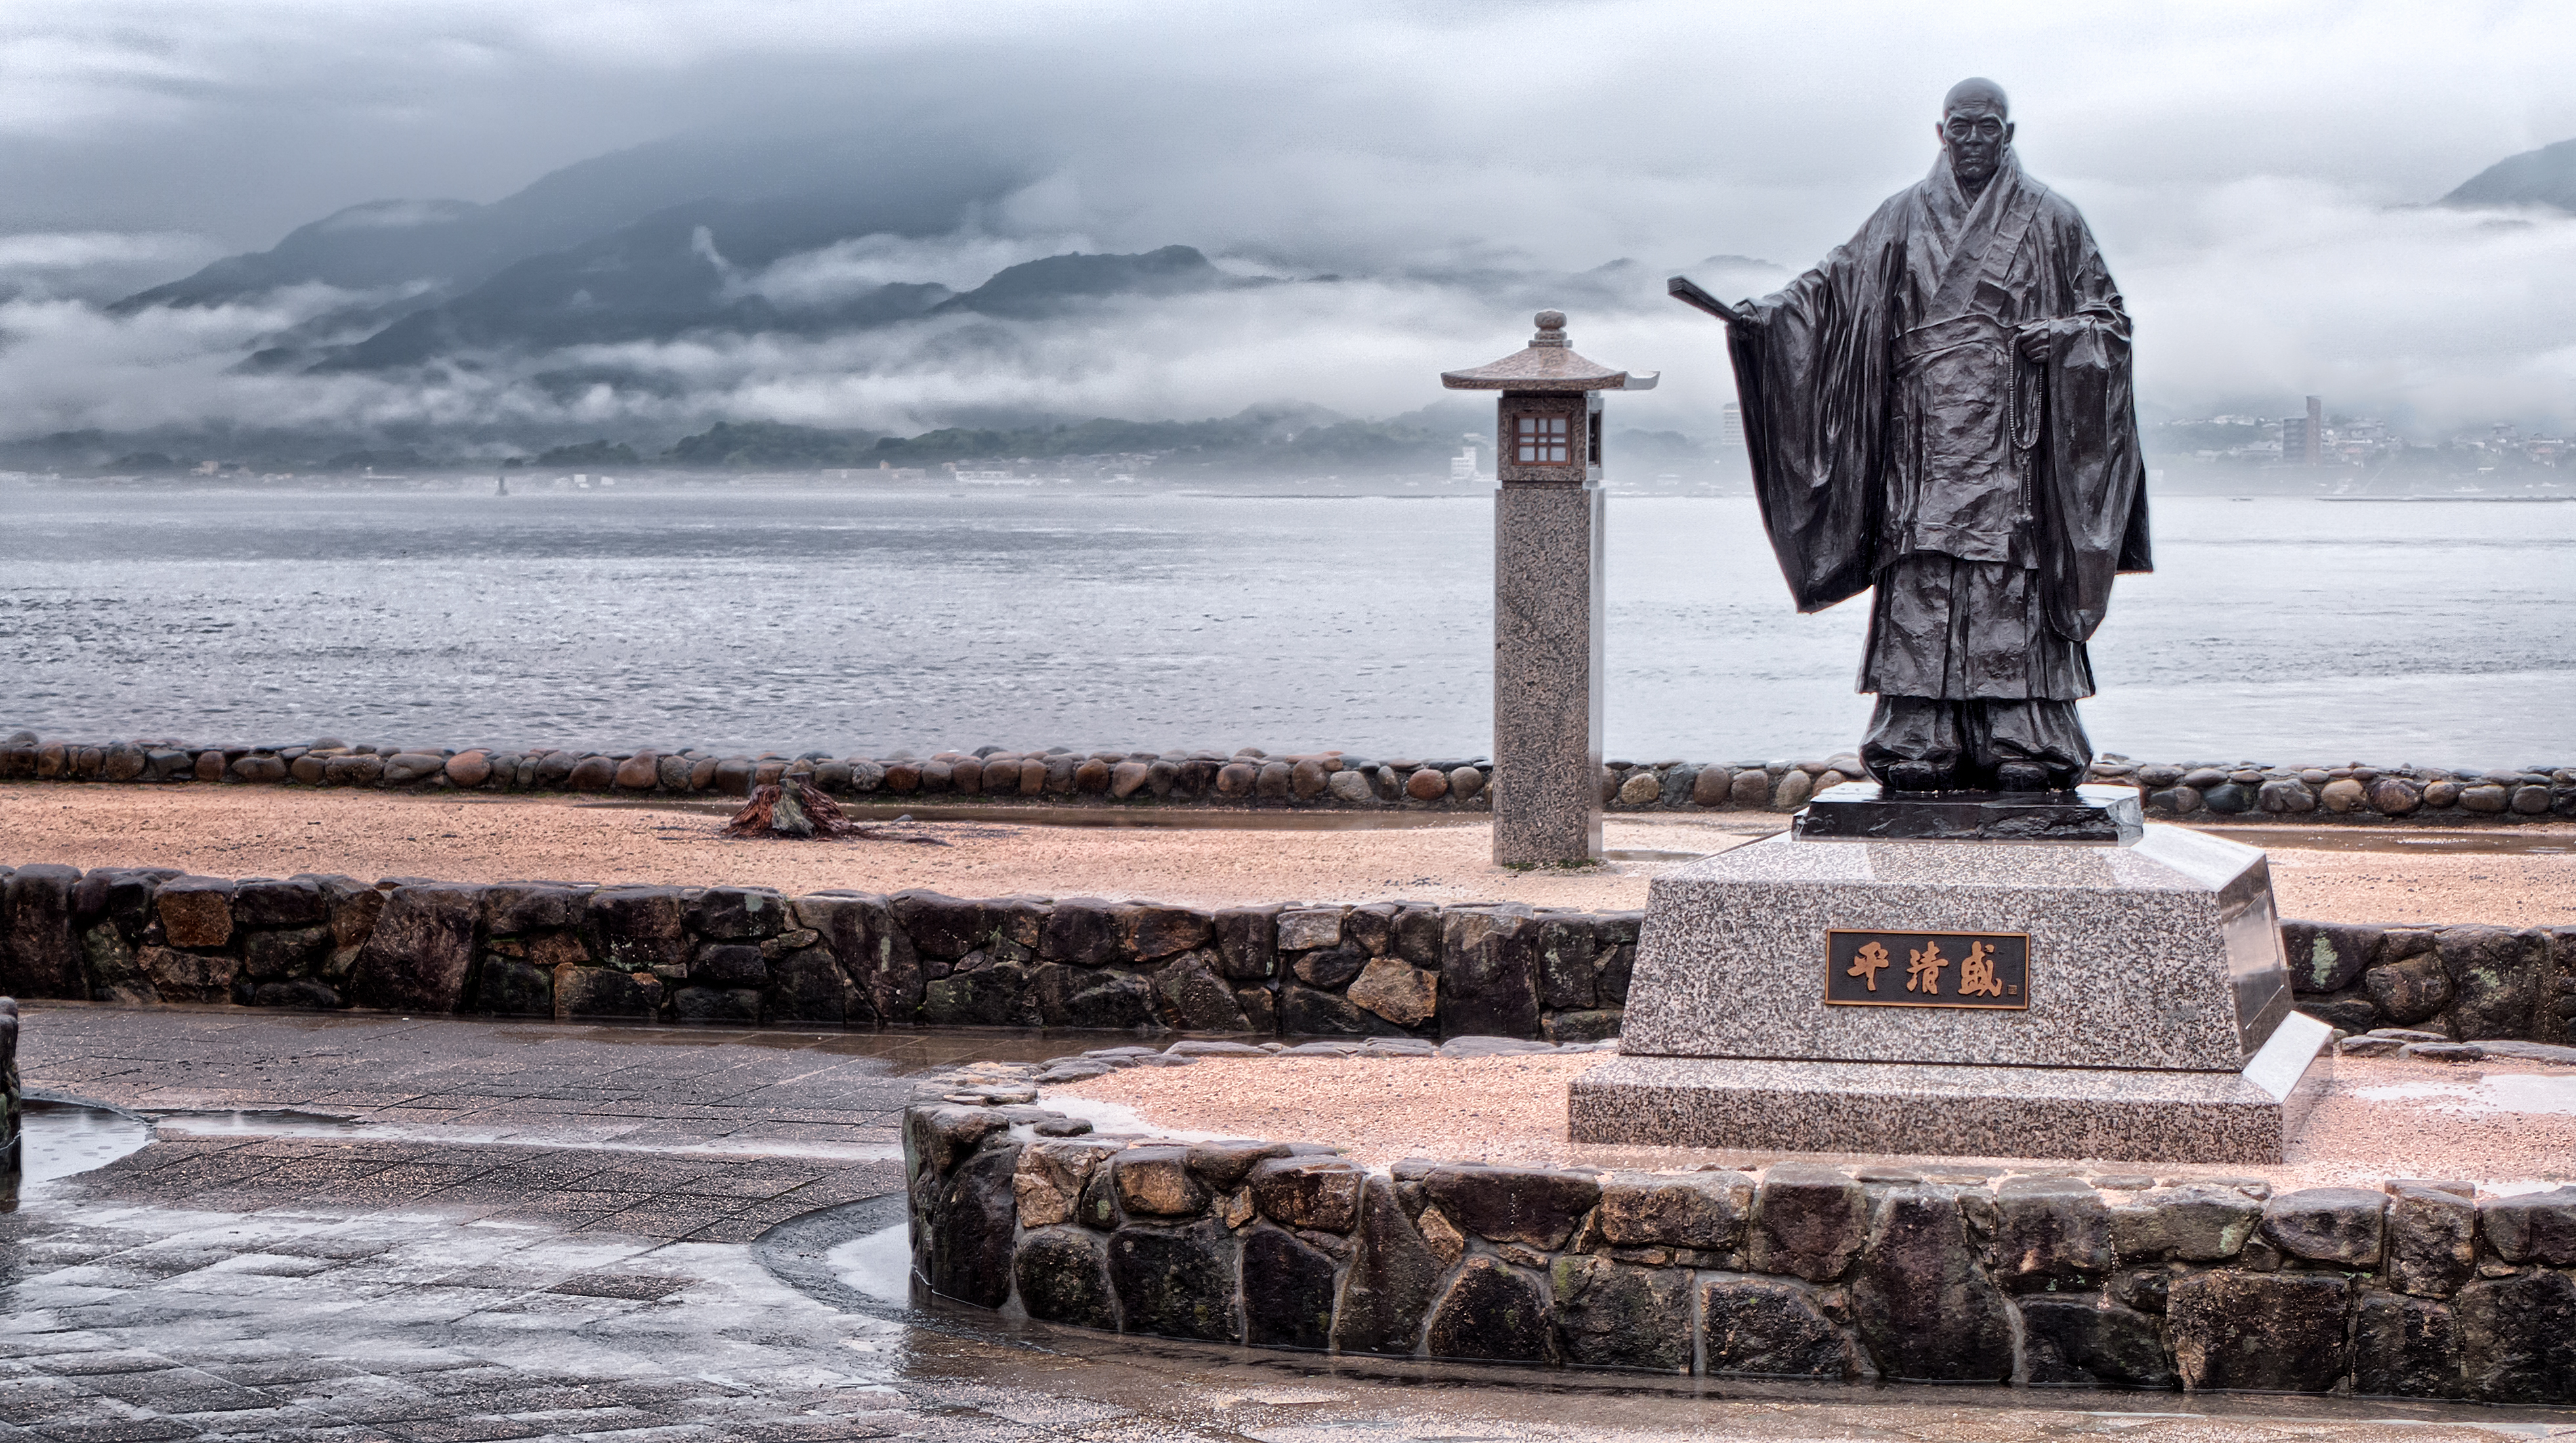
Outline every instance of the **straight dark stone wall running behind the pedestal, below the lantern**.
{"type": "MultiPolygon", "coordinates": [[[[1618,1036],[1641,912],[0,868],[0,992],[729,1026],[1618,1036]]],[[[2576,928],[2285,922],[2362,1033],[2576,1041],[2576,928]]]]}

